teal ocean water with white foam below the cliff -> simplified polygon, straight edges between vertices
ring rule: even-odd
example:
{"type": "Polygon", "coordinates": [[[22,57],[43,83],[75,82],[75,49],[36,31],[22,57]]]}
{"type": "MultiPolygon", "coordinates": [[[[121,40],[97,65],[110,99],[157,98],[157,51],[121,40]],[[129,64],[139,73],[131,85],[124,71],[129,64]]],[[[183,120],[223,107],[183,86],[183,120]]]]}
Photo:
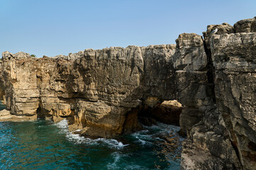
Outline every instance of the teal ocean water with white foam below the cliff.
{"type": "Polygon", "coordinates": [[[0,123],[0,169],[180,169],[179,128],[144,128],[91,140],[68,132],[66,120],[0,123]]]}

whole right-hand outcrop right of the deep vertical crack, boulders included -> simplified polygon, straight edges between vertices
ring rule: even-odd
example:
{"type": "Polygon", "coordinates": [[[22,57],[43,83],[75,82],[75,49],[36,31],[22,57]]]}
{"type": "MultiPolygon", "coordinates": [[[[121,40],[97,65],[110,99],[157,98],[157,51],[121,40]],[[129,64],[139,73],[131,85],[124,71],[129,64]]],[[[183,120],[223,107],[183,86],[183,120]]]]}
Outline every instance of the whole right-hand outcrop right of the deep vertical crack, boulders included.
{"type": "Polygon", "coordinates": [[[254,19],[235,28],[203,33],[214,78],[216,108],[206,110],[183,142],[181,169],[255,169],[255,33],[254,19]],[[250,26],[248,23],[250,21],[250,26]],[[239,30],[240,29],[240,30],[239,30]],[[230,31],[231,30],[231,31],[230,31]],[[235,33],[238,32],[238,33],[235,33]],[[244,32],[244,33],[239,33],[244,32]]]}

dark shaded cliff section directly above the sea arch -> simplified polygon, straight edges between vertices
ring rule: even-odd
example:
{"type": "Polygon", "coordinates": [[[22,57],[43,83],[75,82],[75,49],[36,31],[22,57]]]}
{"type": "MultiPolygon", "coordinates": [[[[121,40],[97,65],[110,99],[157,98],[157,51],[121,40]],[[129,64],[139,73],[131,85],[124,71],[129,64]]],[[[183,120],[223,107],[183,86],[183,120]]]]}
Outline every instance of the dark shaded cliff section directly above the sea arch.
{"type": "Polygon", "coordinates": [[[144,84],[147,88],[144,99],[155,97],[160,101],[164,101],[176,98],[175,70],[171,61],[175,50],[176,45],[142,47],[144,84]]]}

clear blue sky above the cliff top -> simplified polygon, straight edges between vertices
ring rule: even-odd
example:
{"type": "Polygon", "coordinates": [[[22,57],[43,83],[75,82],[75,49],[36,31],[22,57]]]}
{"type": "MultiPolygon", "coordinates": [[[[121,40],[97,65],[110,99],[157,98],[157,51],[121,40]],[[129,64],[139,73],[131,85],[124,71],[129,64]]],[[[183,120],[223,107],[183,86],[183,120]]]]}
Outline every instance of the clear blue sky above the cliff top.
{"type": "Polygon", "coordinates": [[[173,44],[181,33],[256,16],[256,1],[0,0],[0,52],[37,57],[173,44]]]}

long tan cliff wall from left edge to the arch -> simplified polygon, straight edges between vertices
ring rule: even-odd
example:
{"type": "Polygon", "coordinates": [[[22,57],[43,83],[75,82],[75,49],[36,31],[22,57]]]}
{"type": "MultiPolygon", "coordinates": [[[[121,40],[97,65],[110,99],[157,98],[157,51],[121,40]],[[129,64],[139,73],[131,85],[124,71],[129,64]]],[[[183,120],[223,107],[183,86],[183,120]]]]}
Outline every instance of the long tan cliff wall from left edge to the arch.
{"type": "Polygon", "coordinates": [[[82,128],[82,135],[113,137],[132,132],[140,126],[131,110],[144,98],[176,97],[170,64],[175,47],[110,47],[39,59],[4,52],[2,96],[12,114],[65,117],[82,128]]]}

